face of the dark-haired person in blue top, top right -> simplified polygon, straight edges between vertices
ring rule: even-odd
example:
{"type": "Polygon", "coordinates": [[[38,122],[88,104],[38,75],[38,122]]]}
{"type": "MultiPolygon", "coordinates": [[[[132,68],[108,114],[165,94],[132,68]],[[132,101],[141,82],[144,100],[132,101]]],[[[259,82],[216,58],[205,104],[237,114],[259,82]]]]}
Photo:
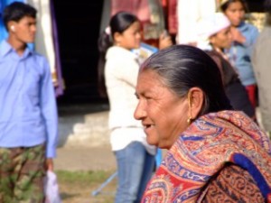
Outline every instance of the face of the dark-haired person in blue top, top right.
{"type": "Polygon", "coordinates": [[[237,27],[245,17],[245,8],[241,2],[230,3],[225,11],[231,25],[237,27]]]}

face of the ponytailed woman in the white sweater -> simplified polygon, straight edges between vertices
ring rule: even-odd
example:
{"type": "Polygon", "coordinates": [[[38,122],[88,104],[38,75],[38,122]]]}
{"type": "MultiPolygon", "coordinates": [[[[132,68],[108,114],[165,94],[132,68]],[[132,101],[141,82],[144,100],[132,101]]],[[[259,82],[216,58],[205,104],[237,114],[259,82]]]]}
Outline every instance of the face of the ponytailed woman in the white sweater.
{"type": "Polygon", "coordinates": [[[141,40],[140,23],[132,23],[125,32],[119,33],[115,39],[118,46],[127,50],[139,48],[141,40]]]}

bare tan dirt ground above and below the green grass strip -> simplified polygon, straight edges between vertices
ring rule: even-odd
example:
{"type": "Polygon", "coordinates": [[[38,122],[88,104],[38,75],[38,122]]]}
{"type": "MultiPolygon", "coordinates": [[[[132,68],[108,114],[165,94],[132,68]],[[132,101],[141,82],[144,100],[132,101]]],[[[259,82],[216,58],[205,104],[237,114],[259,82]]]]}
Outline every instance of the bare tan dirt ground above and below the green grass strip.
{"type": "MultiPolygon", "coordinates": [[[[58,149],[54,160],[55,171],[116,171],[116,161],[110,146],[58,149]]],[[[108,176],[108,178],[110,175],[108,176]]],[[[113,203],[117,178],[111,180],[98,195],[92,193],[104,183],[63,184],[59,182],[62,203],[113,203]]]]}

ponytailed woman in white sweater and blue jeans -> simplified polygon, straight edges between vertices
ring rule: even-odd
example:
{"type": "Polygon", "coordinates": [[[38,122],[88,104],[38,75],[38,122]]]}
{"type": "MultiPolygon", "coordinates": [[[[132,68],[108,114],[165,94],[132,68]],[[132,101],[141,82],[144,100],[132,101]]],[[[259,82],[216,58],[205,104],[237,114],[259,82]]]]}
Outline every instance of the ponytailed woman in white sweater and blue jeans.
{"type": "Polygon", "coordinates": [[[102,57],[98,69],[105,69],[110,143],[117,159],[116,203],[139,202],[154,171],[156,148],[146,143],[144,128],[133,117],[139,64],[132,50],[139,48],[140,42],[140,22],[127,12],[113,15],[98,40],[102,57]]]}

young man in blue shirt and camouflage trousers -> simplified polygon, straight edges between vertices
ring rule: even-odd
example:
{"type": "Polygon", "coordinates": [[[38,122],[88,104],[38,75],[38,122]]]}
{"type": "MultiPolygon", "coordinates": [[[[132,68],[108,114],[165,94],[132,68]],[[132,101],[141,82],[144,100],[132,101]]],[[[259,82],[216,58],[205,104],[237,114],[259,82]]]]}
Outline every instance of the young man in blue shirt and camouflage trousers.
{"type": "Polygon", "coordinates": [[[15,2],[3,14],[0,44],[0,202],[43,202],[43,178],[53,170],[57,109],[48,62],[28,49],[36,10],[15,2]]]}

